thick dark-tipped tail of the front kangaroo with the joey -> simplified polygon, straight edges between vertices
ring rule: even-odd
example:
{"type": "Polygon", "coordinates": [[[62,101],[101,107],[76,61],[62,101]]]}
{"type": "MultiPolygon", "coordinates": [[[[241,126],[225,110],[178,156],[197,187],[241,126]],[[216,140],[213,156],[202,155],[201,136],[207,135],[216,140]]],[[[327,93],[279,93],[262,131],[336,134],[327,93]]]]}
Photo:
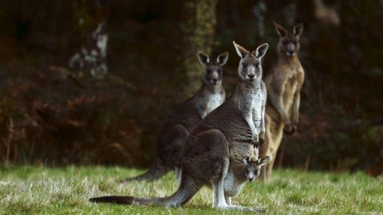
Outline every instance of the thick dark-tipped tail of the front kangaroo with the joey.
{"type": "Polygon", "coordinates": [[[164,205],[177,207],[189,201],[201,189],[201,185],[191,177],[182,176],[178,190],[163,198],[141,198],[134,196],[102,196],[90,198],[91,202],[109,202],[118,204],[164,205]]]}

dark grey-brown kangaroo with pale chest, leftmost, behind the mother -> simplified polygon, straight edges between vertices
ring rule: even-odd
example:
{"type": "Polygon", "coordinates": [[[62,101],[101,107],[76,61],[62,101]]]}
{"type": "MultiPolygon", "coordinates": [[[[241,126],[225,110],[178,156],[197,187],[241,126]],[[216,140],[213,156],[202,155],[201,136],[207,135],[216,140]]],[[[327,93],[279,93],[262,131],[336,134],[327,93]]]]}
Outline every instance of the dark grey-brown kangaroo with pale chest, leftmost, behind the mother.
{"type": "Polygon", "coordinates": [[[226,63],[228,53],[220,54],[215,61],[203,52],[198,53],[198,58],[205,65],[202,87],[196,95],[176,106],[166,118],[157,137],[156,162],[146,173],[120,182],[156,180],[171,169],[176,170],[176,178],[180,180],[182,148],[189,132],[225,101],[221,66],[226,63]]]}

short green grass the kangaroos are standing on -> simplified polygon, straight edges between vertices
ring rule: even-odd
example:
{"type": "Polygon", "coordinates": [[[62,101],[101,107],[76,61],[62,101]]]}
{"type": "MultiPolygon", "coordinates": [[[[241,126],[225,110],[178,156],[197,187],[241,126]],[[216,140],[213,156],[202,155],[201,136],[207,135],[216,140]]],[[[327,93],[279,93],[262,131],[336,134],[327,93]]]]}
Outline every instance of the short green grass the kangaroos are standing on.
{"type": "MultiPolygon", "coordinates": [[[[48,168],[0,165],[0,214],[250,214],[211,208],[211,190],[203,188],[186,205],[97,204],[101,195],[165,196],[174,192],[174,174],[152,183],[119,184],[142,173],[122,167],[48,168]]],[[[233,203],[259,206],[267,214],[382,214],[383,180],[363,173],[333,174],[281,169],[268,184],[246,183],[233,203]]]]}

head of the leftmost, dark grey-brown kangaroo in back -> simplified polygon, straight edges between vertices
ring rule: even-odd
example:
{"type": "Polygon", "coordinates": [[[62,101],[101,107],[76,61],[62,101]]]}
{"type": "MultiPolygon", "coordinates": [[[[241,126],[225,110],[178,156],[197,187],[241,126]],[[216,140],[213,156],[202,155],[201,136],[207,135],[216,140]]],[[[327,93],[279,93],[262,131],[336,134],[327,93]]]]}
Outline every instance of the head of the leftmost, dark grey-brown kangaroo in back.
{"type": "Polygon", "coordinates": [[[202,65],[205,65],[205,71],[202,76],[202,79],[207,84],[221,84],[222,83],[222,66],[226,63],[228,58],[228,53],[224,52],[220,54],[217,59],[210,60],[203,52],[198,53],[198,59],[202,65]]]}

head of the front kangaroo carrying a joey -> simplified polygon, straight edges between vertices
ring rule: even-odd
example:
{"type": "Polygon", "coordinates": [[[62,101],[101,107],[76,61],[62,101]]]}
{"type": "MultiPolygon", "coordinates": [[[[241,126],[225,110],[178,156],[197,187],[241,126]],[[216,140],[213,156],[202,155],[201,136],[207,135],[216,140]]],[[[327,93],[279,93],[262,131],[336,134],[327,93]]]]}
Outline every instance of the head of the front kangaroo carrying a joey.
{"type": "Polygon", "coordinates": [[[262,44],[253,52],[249,52],[245,48],[236,44],[235,41],[233,41],[233,44],[238,56],[241,58],[238,66],[238,75],[240,79],[244,81],[260,80],[262,77],[261,58],[266,54],[269,45],[262,44]]]}

